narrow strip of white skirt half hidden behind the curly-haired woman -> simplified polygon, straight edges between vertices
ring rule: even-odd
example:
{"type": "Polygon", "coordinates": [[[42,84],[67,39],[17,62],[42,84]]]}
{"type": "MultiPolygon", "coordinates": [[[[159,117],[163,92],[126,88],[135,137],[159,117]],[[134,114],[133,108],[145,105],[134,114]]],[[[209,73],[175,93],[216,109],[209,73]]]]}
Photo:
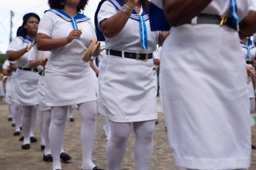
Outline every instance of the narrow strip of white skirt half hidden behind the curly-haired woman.
{"type": "Polygon", "coordinates": [[[41,112],[46,110],[51,110],[51,107],[46,106],[44,76],[42,75],[39,76],[37,97],[38,97],[38,105],[39,105],[38,108],[41,112]]]}

